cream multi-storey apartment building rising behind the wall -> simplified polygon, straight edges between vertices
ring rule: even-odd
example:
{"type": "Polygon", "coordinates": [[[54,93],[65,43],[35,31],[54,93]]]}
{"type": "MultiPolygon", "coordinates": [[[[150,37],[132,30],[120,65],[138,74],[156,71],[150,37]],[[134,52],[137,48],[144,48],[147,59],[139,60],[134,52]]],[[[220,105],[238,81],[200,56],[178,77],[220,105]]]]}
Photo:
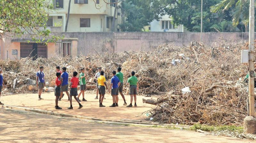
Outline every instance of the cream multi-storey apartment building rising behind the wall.
{"type": "MultiPolygon", "coordinates": [[[[55,10],[49,11],[47,26],[61,26],[65,31],[68,15],[68,0],[50,0],[55,10]]],[[[121,9],[116,11],[115,27],[112,21],[115,11],[115,0],[71,0],[67,32],[108,32],[121,31],[121,9]],[[109,4],[107,4],[109,3],[109,4]]],[[[118,3],[117,5],[120,5],[118,3]]]]}

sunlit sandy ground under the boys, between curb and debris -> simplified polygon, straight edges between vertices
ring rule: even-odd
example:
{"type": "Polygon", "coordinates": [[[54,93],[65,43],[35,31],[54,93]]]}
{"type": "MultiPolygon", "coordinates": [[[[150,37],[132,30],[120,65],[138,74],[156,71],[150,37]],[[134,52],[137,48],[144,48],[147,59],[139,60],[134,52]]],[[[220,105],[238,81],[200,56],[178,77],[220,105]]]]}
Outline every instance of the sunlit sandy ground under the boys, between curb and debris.
{"type": "MultiPolygon", "coordinates": [[[[96,94],[92,92],[85,93],[85,99],[87,102],[81,102],[84,106],[82,109],[78,108],[78,103],[73,98],[73,110],[68,110],[67,108],[70,106],[69,101],[67,101],[68,96],[65,95],[64,98],[59,102],[59,106],[62,107],[62,110],[56,110],[55,107],[55,96],[54,93],[45,93],[42,94],[41,97],[44,100],[38,101],[38,94],[18,94],[18,95],[6,95],[1,96],[1,102],[4,105],[10,106],[20,106],[20,107],[28,107],[35,109],[48,110],[58,113],[72,114],[72,115],[80,115],[85,117],[95,117],[100,119],[112,119],[112,120],[120,120],[120,119],[132,119],[132,120],[143,120],[144,117],[142,113],[148,111],[155,105],[142,103],[142,98],[150,99],[151,97],[137,96],[137,105],[138,107],[128,108],[123,105],[124,101],[119,95],[119,107],[111,108],[109,105],[113,104],[112,96],[110,94],[106,94],[106,99],[103,101],[103,105],[106,107],[99,107],[99,100],[94,99],[96,94]]],[[[130,95],[125,95],[127,104],[130,103],[130,95]]],[[[80,96],[80,100],[82,100],[82,95],[80,96]]],[[[134,104],[134,102],[133,102],[134,104]]]]}

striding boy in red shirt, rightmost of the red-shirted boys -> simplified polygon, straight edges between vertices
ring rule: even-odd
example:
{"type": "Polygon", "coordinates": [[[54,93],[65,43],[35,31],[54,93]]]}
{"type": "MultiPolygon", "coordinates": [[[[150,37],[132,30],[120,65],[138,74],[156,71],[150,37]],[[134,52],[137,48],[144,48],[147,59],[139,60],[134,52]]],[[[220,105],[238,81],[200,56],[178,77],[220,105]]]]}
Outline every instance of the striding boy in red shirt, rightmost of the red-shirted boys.
{"type": "Polygon", "coordinates": [[[73,109],[72,106],[72,96],[74,96],[75,100],[77,101],[77,103],[79,104],[78,109],[81,109],[83,107],[83,105],[81,105],[81,103],[78,101],[78,99],[76,98],[77,94],[77,85],[78,85],[78,78],[77,76],[77,72],[73,72],[73,77],[70,80],[70,107],[68,107],[68,109],[73,109]]]}

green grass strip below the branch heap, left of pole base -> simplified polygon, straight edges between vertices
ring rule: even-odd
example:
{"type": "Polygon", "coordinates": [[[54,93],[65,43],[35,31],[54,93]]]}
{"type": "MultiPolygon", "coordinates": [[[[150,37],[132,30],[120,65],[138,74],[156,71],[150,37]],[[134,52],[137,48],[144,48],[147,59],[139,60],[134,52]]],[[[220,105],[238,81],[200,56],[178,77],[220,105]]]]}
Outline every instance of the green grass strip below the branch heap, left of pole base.
{"type": "Polygon", "coordinates": [[[190,129],[191,130],[200,129],[202,131],[207,131],[207,132],[216,132],[216,131],[230,131],[230,132],[239,132],[239,133],[244,132],[243,127],[234,126],[234,125],[208,126],[208,125],[202,125],[202,124],[194,124],[192,127],[190,127],[190,129]]]}

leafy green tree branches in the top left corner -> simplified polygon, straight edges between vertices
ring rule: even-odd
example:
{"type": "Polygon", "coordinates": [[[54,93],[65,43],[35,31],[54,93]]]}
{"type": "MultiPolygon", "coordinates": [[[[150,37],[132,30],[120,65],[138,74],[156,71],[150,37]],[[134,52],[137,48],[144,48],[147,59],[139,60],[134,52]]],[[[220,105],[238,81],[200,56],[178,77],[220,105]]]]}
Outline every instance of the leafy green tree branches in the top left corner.
{"type": "Polygon", "coordinates": [[[46,29],[47,10],[54,9],[51,0],[0,0],[0,4],[0,35],[29,34],[38,42],[60,39],[46,29]]]}

